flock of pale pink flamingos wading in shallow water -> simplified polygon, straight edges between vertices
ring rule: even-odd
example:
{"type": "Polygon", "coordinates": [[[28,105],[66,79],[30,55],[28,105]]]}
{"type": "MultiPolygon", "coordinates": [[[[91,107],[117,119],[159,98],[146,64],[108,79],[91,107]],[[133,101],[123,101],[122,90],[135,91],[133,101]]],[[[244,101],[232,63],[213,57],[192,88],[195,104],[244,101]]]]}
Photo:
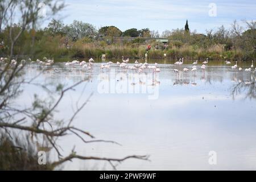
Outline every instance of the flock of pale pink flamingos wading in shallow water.
{"type": "MultiPolygon", "coordinates": [[[[0,59],[0,63],[6,63],[9,59],[8,58],[3,58],[1,57],[0,59]]],[[[45,65],[45,66],[50,66],[52,64],[54,64],[54,60],[53,59],[47,59],[47,57],[44,57],[43,60],[39,60],[37,59],[36,61],[32,61],[31,59],[28,59],[28,61],[30,61],[30,63],[38,63],[41,65],[45,65]]],[[[153,73],[159,73],[160,72],[160,68],[159,68],[159,64],[155,63],[154,65],[150,65],[148,63],[139,63],[137,60],[135,61],[134,64],[130,64],[129,65],[129,58],[127,58],[126,60],[124,59],[124,57],[122,56],[122,61],[117,61],[117,63],[115,65],[118,65],[119,68],[121,68],[122,70],[131,70],[131,71],[138,71],[138,73],[142,73],[144,71],[146,71],[147,69],[151,70],[153,73]],[[121,62],[121,63],[120,63],[121,62]]],[[[19,67],[22,67],[24,64],[26,63],[26,60],[22,60],[20,61],[19,67]]],[[[73,60],[72,62],[67,62],[65,63],[65,66],[67,67],[75,67],[75,65],[79,65],[84,69],[92,69],[92,65],[94,63],[94,60],[92,58],[90,58],[88,60],[88,64],[86,63],[86,61],[79,61],[79,60],[73,60]]],[[[176,63],[174,63],[176,65],[176,69],[174,70],[174,73],[179,74],[180,72],[184,72],[187,73],[189,71],[193,72],[195,75],[195,72],[197,71],[197,64],[199,64],[199,61],[196,60],[194,63],[192,63],[192,68],[188,69],[188,68],[183,68],[182,69],[182,65],[184,63],[184,58],[179,59],[179,61],[177,61],[176,63]],[[179,71],[180,68],[180,71],[179,71]]],[[[203,72],[205,71],[205,68],[207,67],[207,64],[209,63],[209,60],[207,58],[206,61],[203,61],[203,63],[201,63],[201,69],[203,70],[203,72]]],[[[11,60],[11,65],[16,65],[17,61],[16,60],[11,60]]],[[[100,65],[100,68],[102,70],[104,69],[110,69],[112,67],[114,63],[112,61],[109,61],[108,63],[102,63],[100,65]]],[[[230,61],[226,60],[225,64],[230,65],[232,64],[230,61]]],[[[236,64],[233,65],[231,67],[234,71],[237,70],[238,65],[237,65],[237,61],[236,64]]],[[[242,72],[243,69],[241,67],[238,68],[238,71],[242,72]]],[[[250,68],[246,68],[244,69],[245,72],[252,72],[252,71],[256,71],[256,68],[254,69],[254,65],[253,65],[253,60],[251,61],[251,67],[250,68]]]]}

